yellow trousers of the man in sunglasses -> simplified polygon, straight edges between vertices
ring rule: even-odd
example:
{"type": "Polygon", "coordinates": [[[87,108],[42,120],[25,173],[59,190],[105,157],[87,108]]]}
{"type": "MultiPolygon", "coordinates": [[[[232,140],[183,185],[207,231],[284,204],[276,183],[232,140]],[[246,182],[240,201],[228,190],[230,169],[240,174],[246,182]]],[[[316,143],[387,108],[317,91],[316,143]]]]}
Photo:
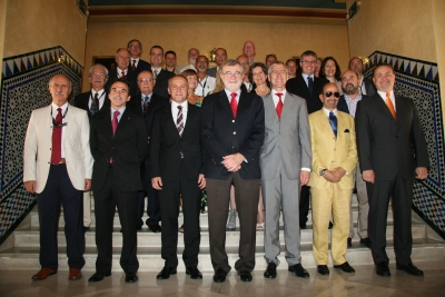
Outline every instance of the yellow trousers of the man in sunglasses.
{"type": "Polygon", "coordinates": [[[349,232],[349,208],[353,189],[340,189],[332,182],[327,189],[310,187],[313,208],[313,251],[317,265],[327,265],[328,258],[328,226],[334,217],[330,234],[330,256],[334,265],[346,261],[347,237],[349,232]]]}

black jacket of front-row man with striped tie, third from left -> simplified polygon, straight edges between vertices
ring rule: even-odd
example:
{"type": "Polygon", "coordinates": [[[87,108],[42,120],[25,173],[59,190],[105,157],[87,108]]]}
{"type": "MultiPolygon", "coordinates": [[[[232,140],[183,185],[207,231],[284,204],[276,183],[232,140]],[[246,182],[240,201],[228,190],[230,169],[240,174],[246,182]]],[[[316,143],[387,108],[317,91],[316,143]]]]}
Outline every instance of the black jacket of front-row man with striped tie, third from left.
{"type": "Polygon", "coordinates": [[[171,106],[165,106],[155,111],[154,126],[150,139],[151,178],[161,177],[162,180],[175,180],[181,169],[184,155],[184,170],[191,180],[198,181],[202,172],[201,109],[188,103],[186,127],[182,137],[171,115],[171,106]]]}

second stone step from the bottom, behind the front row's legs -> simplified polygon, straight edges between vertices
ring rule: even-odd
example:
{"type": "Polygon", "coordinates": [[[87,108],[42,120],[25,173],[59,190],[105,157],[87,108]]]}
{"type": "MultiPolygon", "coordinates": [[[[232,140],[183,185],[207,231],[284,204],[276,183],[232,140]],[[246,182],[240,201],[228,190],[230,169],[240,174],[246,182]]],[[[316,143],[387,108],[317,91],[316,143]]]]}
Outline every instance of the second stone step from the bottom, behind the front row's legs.
{"type": "MultiPolygon", "coordinates": [[[[113,228],[112,232],[112,246],[120,247],[122,246],[122,235],[120,234],[120,227],[113,228]]],[[[413,221],[413,238],[419,239],[425,237],[426,225],[425,222],[417,222],[413,221]]],[[[330,237],[330,230],[328,231],[330,237]]],[[[281,246],[284,246],[284,230],[280,228],[279,231],[281,246]]],[[[389,222],[386,229],[386,237],[393,238],[393,225],[389,222]]],[[[34,227],[21,228],[14,231],[14,246],[16,247],[38,247],[40,246],[39,242],[39,229],[34,227]]],[[[355,236],[355,241],[359,240],[358,236],[355,236]]],[[[63,228],[59,228],[58,231],[58,242],[59,247],[66,247],[66,238],[63,228]]],[[[301,245],[304,244],[312,244],[313,242],[313,230],[310,228],[301,230],[301,245]]],[[[226,232],[226,246],[227,247],[238,247],[239,245],[239,229],[235,231],[227,231],[226,232]]],[[[138,231],[138,248],[158,248],[160,251],[160,234],[154,234],[149,231],[146,227],[138,231]]],[[[184,247],[184,234],[178,232],[178,246],[184,247]]],[[[264,231],[257,231],[256,237],[256,246],[263,247],[264,246],[264,231]]],[[[95,228],[90,228],[86,232],[86,247],[96,247],[95,240],[95,228]]],[[[207,227],[201,227],[201,248],[209,247],[209,234],[207,227]]]]}

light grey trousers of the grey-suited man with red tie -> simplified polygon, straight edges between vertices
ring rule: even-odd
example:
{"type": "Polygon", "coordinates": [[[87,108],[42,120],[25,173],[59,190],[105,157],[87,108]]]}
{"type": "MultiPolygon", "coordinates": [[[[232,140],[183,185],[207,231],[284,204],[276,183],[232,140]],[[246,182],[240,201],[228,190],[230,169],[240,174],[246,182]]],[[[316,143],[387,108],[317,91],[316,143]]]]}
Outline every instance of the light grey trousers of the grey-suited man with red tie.
{"type": "Polygon", "coordinates": [[[289,266],[301,261],[299,229],[299,191],[300,180],[288,179],[283,167],[277,170],[271,180],[261,180],[263,199],[265,204],[265,259],[279,265],[279,216],[283,209],[285,221],[286,261],[289,266]]]}

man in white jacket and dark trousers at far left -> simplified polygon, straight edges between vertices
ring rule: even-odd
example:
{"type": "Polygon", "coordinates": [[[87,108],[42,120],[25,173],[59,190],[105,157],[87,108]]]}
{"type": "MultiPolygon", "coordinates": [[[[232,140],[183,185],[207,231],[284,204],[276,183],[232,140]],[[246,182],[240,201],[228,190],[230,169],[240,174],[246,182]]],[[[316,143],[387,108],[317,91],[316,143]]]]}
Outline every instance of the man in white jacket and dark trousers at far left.
{"type": "Polygon", "coordinates": [[[82,192],[91,187],[92,156],[87,111],[70,106],[71,82],[63,75],[49,81],[52,103],[32,111],[23,149],[23,181],[37,194],[41,269],[32,279],[57,273],[57,230],[63,206],[69,279],[82,277],[85,236],[82,192]]]}

